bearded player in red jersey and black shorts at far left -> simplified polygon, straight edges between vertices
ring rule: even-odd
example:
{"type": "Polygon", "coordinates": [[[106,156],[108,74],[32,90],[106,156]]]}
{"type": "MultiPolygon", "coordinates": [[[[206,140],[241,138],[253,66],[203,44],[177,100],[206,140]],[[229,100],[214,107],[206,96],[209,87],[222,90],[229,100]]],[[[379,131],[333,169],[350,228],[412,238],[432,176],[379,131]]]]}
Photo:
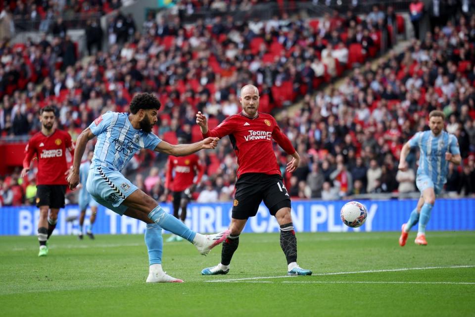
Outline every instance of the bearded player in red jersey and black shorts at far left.
{"type": "Polygon", "coordinates": [[[65,131],[56,129],[54,127],[55,120],[53,107],[46,106],[41,109],[41,131],[28,142],[21,171],[21,177],[25,177],[30,170],[31,160],[38,159],[36,206],[40,208],[39,257],[47,256],[46,242],[56,227],[59,209],[64,208],[64,195],[68,183],[66,177],[70,172],[66,162],[66,151],[69,151],[71,156],[74,155],[71,136],[65,131]]]}

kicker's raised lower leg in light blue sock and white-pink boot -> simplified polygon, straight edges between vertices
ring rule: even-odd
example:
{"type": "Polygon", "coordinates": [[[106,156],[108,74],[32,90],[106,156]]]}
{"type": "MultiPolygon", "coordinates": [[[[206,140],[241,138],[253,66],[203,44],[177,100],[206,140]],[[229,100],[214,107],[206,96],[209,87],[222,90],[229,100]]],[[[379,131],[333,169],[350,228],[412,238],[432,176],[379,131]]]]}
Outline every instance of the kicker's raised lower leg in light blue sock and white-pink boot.
{"type": "Polygon", "coordinates": [[[196,233],[183,222],[165,212],[160,206],[157,206],[150,211],[148,217],[153,222],[158,223],[163,229],[190,241],[202,255],[207,255],[211,249],[223,242],[230,233],[229,230],[209,235],[196,233]]]}

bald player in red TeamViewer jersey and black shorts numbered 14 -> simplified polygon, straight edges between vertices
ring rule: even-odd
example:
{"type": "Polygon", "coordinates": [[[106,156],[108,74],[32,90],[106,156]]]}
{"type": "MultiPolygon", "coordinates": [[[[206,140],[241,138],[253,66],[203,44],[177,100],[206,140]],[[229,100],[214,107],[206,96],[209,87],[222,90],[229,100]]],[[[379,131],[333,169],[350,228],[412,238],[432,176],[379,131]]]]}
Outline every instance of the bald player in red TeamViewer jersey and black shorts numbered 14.
{"type": "Polygon", "coordinates": [[[198,112],[196,123],[203,137],[229,135],[238,157],[238,181],[231,217],[230,236],[223,242],[221,263],[201,271],[203,275],[226,274],[234,252],[238,249],[239,234],[249,217],[257,214],[262,201],[280,225],[280,242],[287,260],[287,274],[312,275],[312,271],[297,264],[297,239],[290,214],[290,197],[284,186],[279,164],[274,154],[272,139],[285,150],[292,160],[286,170],[293,172],[300,161],[290,140],[282,133],[274,117],[259,113],[259,91],[253,85],[242,87],[239,97],[242,111],[227,117],[215,129],[208,129],[206,117],[198,112]]]}

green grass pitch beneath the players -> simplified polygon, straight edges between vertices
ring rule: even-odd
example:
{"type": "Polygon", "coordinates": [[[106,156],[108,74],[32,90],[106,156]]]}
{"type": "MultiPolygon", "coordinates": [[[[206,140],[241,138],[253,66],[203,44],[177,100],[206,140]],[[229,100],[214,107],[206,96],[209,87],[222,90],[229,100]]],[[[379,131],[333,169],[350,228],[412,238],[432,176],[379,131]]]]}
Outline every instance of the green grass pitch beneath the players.
{"type": "MultiPolygon", "coordinates": [[[[398,237],[298,233],[298,263],[314,274],[475,264],[475,232],[429,231],[427,247],[414,244],[415,232],[404,248],[398,237]]],[[[475,315],[475,267],[207,282],[286,273],[278,234],[242,234],[227,275],[200,275],[220,254],[221,246],[203,257],[187,242],[164,243],[164,270],[186,283],[146,284],[143,235],[53,236],[46,258],[37,256],[36,237],[1,237],[1,315],[475,315]]]]}

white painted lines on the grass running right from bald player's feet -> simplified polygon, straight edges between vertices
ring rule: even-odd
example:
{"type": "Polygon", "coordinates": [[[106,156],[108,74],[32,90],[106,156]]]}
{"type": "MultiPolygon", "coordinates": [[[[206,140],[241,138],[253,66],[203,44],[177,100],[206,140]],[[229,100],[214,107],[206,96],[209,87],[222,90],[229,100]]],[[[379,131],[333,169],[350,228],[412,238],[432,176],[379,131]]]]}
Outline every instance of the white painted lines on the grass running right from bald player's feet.
{"type": "MultiPolygon", "coordinates": [[[[380,272],[399,272],[399,271],[445,269],[445,268],[471,268],[471,267],[475,267],[475,265],[426,266],[426,267],[404,267],[404,268],[391,268],[391,269],[371,269],[371,270],[364,270],[364,271],[316,273],[316,274],[312,274],[312,276],[347,275],[347,274],[380,273],[380,272]]],[[[229,282],[258,282],[258,283],[266,282],[266,283],[269,283],[269,281],[257,281],[257,280],[278,279],[278,278],[294,278],[294,277],[296,277],[296,276],[291,276],[291,275],[257,276],[257,277],[207,280],[207,281],[204,281],[204,282],[206,282],[206,283],[229,283],[229,282]]],[[[377,281],[377,282],[366,282],[366,281],[360,281],[360,282],[351,282],[351,281],[342,281],[342,282],[338,282],[338,281],[333,281],[333,282],[325,282],[325,281],[284,281],[283,283],[468,284],[468,285],[475,284],[475,282],[472,283],[472,282],[384,282],[384,281],[377,281]]]]}

